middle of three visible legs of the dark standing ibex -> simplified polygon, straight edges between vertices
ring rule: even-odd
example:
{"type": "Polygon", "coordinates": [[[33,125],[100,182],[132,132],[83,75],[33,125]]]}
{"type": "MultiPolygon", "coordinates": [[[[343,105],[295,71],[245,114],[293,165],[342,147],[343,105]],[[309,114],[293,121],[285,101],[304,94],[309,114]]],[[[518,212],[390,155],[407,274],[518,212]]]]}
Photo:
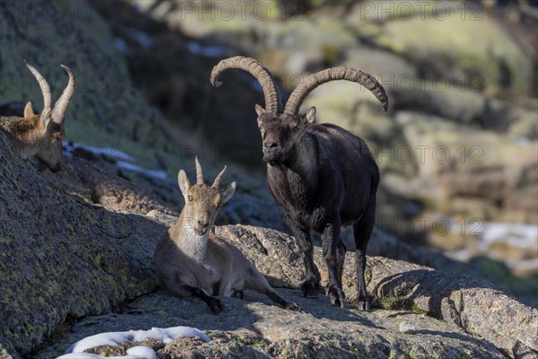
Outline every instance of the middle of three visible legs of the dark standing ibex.
{"type": "Polygon", "coordinates": [[[345,296],[342,290],[342,265],[343,246],[340,242],[340,217],[334,215],[333,218],[325,224],[321,234],[321,246],[325,265],[329,273],[329,285],[327,285],[327,295],[331,300],[331,305],[343,307],[345,296]],[[341,248],[342,247],[342,248],[341,248]]]}

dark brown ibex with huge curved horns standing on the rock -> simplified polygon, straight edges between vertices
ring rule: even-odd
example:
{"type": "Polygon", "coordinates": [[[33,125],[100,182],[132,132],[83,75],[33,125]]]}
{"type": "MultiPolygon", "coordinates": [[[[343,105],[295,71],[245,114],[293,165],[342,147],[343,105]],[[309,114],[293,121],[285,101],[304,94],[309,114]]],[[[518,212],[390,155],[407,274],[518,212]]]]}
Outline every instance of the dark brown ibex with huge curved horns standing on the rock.
{"type": "Polygon", "coordinates": [[[314,264],[310,231],[321,233],[325,264],[329,273],[327,295],[335,306],[343,306],[342,271],[345,248],[340,227],[352,224],[357,245],[356,267],[360,310],[369,310],[364,282],[366,249],[374,227],[379,171],[367,144],[357,135],[334,125],[314,124],[316,109],[299,115],[309,92],[334,80],[364,85],[387,108],[386,92],[370,74],[348,67],[334,67],[312,74],[301,83],[282,111],[279,92],[272,75],[248,57],[231,57],[213,67],[211,82],[229,68],[254,75],[262,85],[265,106],[256,105],[257,123],[267,163],[267,184],[291,227],[306,267],[302,291],[316,298],[320,291],[319,272],[314,264]]]}

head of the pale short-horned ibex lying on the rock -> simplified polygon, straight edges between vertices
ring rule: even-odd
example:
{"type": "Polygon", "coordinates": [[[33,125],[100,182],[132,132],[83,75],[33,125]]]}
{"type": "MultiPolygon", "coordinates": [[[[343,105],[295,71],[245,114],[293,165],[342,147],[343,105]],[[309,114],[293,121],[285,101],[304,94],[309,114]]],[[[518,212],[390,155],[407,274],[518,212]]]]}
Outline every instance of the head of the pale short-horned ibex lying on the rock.
{"type": "Polygon", "coordinates": [[[191,226],[197,235],[209,232],[215,223],[221,206],[230,200],[236,190],[236,182],[231,182],[225,188],[221,188],[222,176],[226,167],[215,178],[211,187],[205,185],[202,166],[196,162],[196,184],[190,184],[185,171],[178,173],[179,189],[185,198],[185,207],[182,216],[187,225],[191,226]]]}

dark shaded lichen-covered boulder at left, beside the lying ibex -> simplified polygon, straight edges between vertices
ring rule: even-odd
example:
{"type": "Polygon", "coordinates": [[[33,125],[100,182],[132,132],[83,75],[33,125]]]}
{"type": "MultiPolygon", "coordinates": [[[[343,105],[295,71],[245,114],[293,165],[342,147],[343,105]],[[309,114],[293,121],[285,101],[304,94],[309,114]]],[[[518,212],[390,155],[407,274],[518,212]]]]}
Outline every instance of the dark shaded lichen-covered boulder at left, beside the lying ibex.
{"type": "Polygon", "coordinates": [[[152,292],[165,227],[58,190],[0,133],[0,338],[28,355],[68,318],[152,292]]]}

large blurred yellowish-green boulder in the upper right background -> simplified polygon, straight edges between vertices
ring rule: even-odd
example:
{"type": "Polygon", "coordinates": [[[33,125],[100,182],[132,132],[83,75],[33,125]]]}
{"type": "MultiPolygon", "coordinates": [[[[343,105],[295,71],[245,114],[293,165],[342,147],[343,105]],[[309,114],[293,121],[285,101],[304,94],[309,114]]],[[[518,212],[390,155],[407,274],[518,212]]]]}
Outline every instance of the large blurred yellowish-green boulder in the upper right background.
{"type": "Polygon", "coordinates": [[[533,91],[532,58],[480,4],[358,3],[347,22],[369,43],[410,59],[431,78],[490,93],[533,91]]]}

